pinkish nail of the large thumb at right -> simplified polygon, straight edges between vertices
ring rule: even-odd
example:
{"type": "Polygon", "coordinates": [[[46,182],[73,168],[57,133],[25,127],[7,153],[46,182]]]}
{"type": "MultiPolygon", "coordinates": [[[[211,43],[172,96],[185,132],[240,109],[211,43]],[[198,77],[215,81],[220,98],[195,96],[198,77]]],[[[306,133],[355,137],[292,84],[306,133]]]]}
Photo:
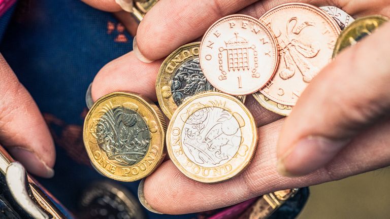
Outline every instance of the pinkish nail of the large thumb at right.
{"type": "Polygon", "coordinates": [[[311,173],[331,161],[349,141],[320,136],[306,137],[278,160],[277,170],[289,177],[311,173]]]}

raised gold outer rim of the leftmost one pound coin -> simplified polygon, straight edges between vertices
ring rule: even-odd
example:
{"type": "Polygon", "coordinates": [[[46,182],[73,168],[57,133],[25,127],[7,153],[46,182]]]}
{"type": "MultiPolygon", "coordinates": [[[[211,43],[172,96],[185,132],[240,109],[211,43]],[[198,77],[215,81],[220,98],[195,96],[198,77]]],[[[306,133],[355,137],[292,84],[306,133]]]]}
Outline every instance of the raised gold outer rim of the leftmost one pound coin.
{"type": "MultiPolygon", "coordinates": [[[[137,113],[140,114],[139,112],[137,112],[137,113]]],[[[143,115],[140,114],[140,116],[143,116],[143,115]]],[[[166,155],[166,151],[165,151],[165,147],[164,147],[166,130],[167,130],[167,125],[165,123],[163,114],[161,114],[161,112],[159,111],[158,107],[151,100],[149,100],[147,97],[145,97],[143,95],[140,95],[140,94],[137,94],[137,93],[133,93],[133,92],[126,92],[126,91],[113,92],[113,93],[107,94],[107,95],[99,98],[98,100],[96,100],[96,102],[92,105],[91,109],[88,111],[87,115],[85,116],[84,125],[83,125],[84,147],[85,147],[85,150],[87,151],[88,158],[91,161],[91,164],[93,165],[93,167],[95,169],[99,170],[99,172],[101,174],[105,175],[108,178],[112,178],[112,179],[119,180],[119,181],[126,181],[126,182],[136,181],[136,180],[142,179],[142,178],[148,176],[149,174],[151,174],[161,164],[161,162],[163,162],[163,160],[165,158],[165,155],[166,155]],[[149,109],[149,112],[153,115],[153,117],[154,117],[154,119],[155,119],[155,121],[157,123],[158,129],[159,129],[160,134],[161,134],[160,145],[159,145],[159,149],[160,150],[159,150],[158,154],[156,155],[156,159],[155,159],[156,161],[154,161],[152,165],[148,166],[149,167],[149,171],[145,170],[143,172],[140,172],[137,175],[130,174],[128,176],[118,176],[118,175],[115,175],[115,174],[109,172],[105,168],[102,168],[100,165],[95,164],[96,161],[93,158],[93,154],[92,154],[92,151],[91,151],[91,149],[89,147],[89,142],[88,142],[88,139],[87,139],[88,134],[86,134],[88,132],[88,130],[87,130],[88,129],[88,124],[89,124],[88,121],[93,116],[95,108],[101,102],[104,102],[104,101],[110,99],[111,97],[115,97],[115,96],[124,96],[126,98],[131,98],[133,100],[135,99],[135,100],[139,101],[140,103],[144,104],[144,106],[149,109]]],[[[155,135],[155,134],[152,134],[152,136],[153,135],[155,135]]],[[[99,145],[98,145],[98,148],[100,149],[99,145]]],[[[152,148],[149,147],[149,149],[148,149],[146,154],[148,154],[151,149],[152,148]]],[[[103,154],[103,152],[102,152],[102,154],[103,154]]],[[[142,161],[144,161],[146,157],[147,156],[145,155],[142,158],[142,160],[137,162],[137,164],[142,162],[142,161]]],[[[130,168],[130,167],[135,166],[137,164],[127,165],[127,167],[130,168]]],[[[121,168],[125,168],[126,167],[125,165],[120,165],[120,166],[116,165],[116,166],[117,167],[121,167],[121,168]]]]}

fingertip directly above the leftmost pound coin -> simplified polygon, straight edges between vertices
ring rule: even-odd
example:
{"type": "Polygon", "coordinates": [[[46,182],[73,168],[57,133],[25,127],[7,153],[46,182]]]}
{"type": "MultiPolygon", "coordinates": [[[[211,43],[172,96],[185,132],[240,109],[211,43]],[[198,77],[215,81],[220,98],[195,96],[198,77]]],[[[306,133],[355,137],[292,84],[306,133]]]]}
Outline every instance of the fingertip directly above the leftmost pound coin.
{"type": "Polygon", "coordinates": [[[161,63],[161,60],[149,64],[141,62],[134,52],[114,59],[106,64],[93,80],[93,101],[115,91],[135,92],[157,101],[155,83],[161,63]]]}

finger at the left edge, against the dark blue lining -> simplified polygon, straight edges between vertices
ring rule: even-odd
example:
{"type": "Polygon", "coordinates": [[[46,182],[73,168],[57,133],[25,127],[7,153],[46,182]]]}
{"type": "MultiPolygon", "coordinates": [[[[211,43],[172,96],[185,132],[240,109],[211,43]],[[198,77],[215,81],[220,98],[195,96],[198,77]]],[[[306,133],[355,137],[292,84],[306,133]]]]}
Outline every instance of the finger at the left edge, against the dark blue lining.
{"type": "Polygon", "coordinates": [[[0,55],[0,142],[33,174],[52,177],[53,139],[27,90],[0,55]]]}

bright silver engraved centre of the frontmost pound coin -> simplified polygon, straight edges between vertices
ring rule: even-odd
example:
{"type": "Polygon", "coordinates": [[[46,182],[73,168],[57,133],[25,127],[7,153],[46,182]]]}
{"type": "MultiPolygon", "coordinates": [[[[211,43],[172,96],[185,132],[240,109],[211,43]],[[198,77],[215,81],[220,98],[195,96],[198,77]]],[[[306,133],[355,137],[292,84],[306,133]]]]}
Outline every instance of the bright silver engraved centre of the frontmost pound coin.
{"type": "MultiPolygon", "coordinates": [[[[189,109],[199,107],[205,106],[194,103],[189,109]]],[[[203,167],[223,165],[231,160],[241,142],[241,126],[232,113],[219,107],[201,108],[189,117],[188,113],[191,112],[181,115],[185,155],[203,167]]]]}

